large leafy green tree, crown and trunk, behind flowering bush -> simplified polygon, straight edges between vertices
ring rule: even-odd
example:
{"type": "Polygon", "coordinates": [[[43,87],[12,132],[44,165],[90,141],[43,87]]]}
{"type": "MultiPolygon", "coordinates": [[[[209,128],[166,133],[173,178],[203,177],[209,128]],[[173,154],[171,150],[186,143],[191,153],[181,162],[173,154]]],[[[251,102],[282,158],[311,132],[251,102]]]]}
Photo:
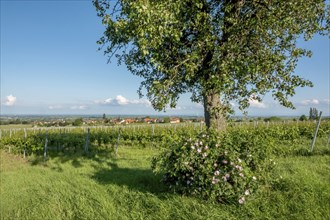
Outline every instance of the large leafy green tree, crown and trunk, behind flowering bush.
{"type": "Polygon", "coordinates": [[[312,86],[293,75],[311,52],[297,39],[326,33],[325,0],[94,0],[106,27],[98,43],[141,76],[139,94],[153,107],[175,107],[192,93],[204,104],[208,127],[224,129],[229,102],[241,110],[270,92],[286,107],[296,87],[312,86]]]}

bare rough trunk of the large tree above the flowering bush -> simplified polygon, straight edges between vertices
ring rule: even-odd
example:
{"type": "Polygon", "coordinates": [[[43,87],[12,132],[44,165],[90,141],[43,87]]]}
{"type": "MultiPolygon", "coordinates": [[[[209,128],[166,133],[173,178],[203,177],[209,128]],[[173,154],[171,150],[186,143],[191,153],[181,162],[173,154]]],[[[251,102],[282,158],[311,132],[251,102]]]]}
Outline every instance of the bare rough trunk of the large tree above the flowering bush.
{"type": "Polygon", "coordinates": [[[224,131],[226,129],[226,119],[218,93],[204,95],[204,116],[208,129],[215,129],[217,131],[224,131]]]}

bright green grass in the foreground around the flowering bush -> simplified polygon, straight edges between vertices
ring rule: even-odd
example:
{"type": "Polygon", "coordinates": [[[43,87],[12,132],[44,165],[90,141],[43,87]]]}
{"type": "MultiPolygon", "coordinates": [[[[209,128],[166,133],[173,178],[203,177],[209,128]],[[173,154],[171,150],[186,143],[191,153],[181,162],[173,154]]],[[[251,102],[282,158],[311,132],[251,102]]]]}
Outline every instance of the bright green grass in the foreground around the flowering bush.
{"type": "Polygon", "coordinates": [[[1,219],[330,219],[330,146],[321,144],[277,158],[278,180],[240,206],[167,191],[150,169],[155,148],[45,163],[1,151],[1,219]]]}

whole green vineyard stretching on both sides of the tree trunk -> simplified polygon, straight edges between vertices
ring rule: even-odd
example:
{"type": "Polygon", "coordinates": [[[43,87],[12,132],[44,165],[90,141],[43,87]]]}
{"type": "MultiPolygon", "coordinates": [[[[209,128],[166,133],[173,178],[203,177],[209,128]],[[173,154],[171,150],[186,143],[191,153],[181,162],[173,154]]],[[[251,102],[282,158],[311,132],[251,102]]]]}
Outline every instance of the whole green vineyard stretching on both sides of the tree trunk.
{"type": "MultiPolygon", "coordinates": [[[[0,148],[24,157],[44,155],[46,150],[56,155],[114,151],[120,146],[166,148],[182,136],[194,136],[203,130],[203,124],[1,129],[0,148]]],[[[295,150],[294,144],[312,140],[314,132],[315,122],[232,123],[228,125],[226,139],[233,146],[242,142],[250,147],[267,144],[275,154],[284,154],[295,150]]],[[[329,134],[330,122],[323,121],[318,137],[329,134]]]]}

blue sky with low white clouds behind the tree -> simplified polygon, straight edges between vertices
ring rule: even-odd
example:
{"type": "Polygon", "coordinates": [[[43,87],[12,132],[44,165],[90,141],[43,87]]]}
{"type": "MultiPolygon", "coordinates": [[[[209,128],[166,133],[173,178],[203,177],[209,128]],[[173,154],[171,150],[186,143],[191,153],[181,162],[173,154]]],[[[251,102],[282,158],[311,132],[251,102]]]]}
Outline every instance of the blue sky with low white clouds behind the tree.
{"type": "MultiPolygon", "coordinates": [[[[1,0],[1,114],[159,114],[139,99],[141,79],[97,51],[103,31],[91,1],[1,0]]],[[[299,44],[313,57],[301,59],[296,74],[314,87],[296,90],[296,110],[266,96],[249,115],[299,116],[310,107],[330,115],[329,38],[299,44]]],[[[202,116],[203,108],[185,94],[161,114],[202,116]]]]}

